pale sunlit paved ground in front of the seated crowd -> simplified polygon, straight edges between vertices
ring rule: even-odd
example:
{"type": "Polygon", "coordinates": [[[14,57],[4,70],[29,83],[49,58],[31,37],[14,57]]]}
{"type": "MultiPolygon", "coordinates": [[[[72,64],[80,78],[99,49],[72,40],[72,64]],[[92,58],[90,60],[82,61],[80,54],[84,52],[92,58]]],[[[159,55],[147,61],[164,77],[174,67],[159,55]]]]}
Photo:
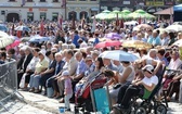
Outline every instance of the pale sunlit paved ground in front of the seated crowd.
{"type": "MultiPolygon", "coordinates": [[[[58,103],[55,99],[25,91],[20,92],[27,103],[18,102],[17,100],[9,101],[5,104],[9,111],[0,109],[0,114],[60,114],[58,106],[64,106],[63,103],[58,103]]],[[[70,106],[72,112],[64,114],[74,114],[74,104],[70,106]]],[[[169,102],[169,106],[168,114],[182,114],[182,104],[169,102]]]]}

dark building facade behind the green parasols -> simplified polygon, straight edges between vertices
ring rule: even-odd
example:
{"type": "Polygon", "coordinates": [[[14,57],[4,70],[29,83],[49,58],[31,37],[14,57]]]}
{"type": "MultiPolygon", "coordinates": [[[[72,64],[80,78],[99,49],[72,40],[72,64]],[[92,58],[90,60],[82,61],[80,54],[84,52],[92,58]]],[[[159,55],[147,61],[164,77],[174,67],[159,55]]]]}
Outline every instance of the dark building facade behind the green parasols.
{"type": "Polygon", "coordinates": [[[100,11],[103,10],[123,10],[134,11],[143,9],[146,12],[155,13],[156,11],[167,9],[176,4],[177,0],[100,0],[100,11]]]}

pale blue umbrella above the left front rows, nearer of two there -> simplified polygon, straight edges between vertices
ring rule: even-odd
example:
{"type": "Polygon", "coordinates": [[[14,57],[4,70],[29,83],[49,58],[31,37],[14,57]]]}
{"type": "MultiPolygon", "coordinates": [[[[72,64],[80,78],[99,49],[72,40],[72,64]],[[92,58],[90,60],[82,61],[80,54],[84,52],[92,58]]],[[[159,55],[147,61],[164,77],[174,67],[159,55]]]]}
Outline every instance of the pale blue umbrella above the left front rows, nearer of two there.
{"type": "Polygon", "coordinates": [[[49,41],[50,38],[49,37],[41,37],[41,36],[35,36],[32,38],[30,38],[29,42],[43,42],[43,41],[49,41]]]}

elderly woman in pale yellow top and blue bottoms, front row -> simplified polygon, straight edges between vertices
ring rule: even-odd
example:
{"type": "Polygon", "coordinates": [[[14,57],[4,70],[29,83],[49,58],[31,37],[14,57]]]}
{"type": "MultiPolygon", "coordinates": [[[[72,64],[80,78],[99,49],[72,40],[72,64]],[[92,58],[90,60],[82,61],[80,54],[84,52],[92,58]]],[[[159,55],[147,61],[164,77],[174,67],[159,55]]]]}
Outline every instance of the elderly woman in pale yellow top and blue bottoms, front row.
{"type": "Polygon", "coordinates": [[[35,73],[30,76],[29,87],[30,92],[39,92],[39,79],[41,73],[43,73],[49,66],[49,61],[42,51],[39,52],[39,62],[36,64],[35,73]]]}

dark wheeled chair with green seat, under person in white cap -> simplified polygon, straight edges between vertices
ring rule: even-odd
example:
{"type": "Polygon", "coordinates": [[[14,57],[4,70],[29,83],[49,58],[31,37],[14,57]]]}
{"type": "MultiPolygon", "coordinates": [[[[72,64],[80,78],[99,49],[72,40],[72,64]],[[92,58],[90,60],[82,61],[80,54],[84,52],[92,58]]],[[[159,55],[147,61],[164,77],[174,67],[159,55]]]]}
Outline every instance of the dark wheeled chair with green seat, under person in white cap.
{"type": "Polygon", "coordinates": [[[166,67],[162,67],[162,73],[158,76],[158,84],[152,92],[144,89],[144,94],[139,97],[133,97],[130,102],[130,111],[121,111],[118,106],[113,106],[110,114],[150,114],[154,110],[154,114],[167,114],[167,107],[160,101],[156,99],[156,94],[159,89],[162,87],[162,74],[165,73],[166,67]],[[138,103],[138,99],[142,99],[141,103],[138,103]]]}

